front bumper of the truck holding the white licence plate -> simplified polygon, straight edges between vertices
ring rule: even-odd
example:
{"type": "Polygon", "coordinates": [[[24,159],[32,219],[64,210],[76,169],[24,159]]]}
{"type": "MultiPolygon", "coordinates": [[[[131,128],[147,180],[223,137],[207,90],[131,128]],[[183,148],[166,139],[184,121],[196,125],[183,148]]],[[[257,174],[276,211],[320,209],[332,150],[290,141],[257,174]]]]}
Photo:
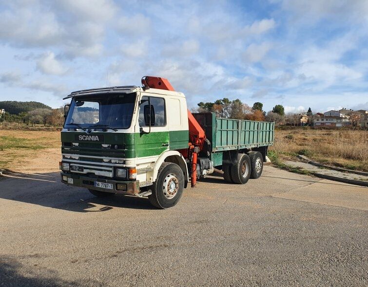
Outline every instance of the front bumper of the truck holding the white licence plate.
{"type": "Polygon", "coordinates": [[[80,176],[77,174],[60,172],[61,182],[71,186],[85,187],[98,191],[104,192],[113,192],[120,194],[129,194],[135,195],[139,193],[139,180],[134,181],[120,181],[120,180],[111,180],[111,179],[97,179],[92,177],[80,176]],[[73,183],[68,183],[68,181],[63,180],[63,176],[66,176],[68,179],[73,179],[73,183]],[[101,187],[95,187],[95,181],[111,183],[113,185],[113,189],[106,189],[101,187]],[[117,184],[121,184],[123,188],[117,189],[117,184]],[[125,185],[125,187],[124,187],[125,185]]]}

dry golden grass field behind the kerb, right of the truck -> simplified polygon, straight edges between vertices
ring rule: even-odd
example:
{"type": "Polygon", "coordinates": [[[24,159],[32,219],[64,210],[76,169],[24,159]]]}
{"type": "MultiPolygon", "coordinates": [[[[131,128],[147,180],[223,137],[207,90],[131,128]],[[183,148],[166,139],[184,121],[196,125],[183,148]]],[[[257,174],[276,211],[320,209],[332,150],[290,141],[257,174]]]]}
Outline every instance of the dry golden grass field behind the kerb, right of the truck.
{"type": "MultiPolygon", "coordinates": [[[[312,160],[368,171],[367,130],[297,128],[276,130],[270,148],[280,158],[302,154],[312,160]]],[[[271,153],[272,155],[272,153],[271,153]]]]}

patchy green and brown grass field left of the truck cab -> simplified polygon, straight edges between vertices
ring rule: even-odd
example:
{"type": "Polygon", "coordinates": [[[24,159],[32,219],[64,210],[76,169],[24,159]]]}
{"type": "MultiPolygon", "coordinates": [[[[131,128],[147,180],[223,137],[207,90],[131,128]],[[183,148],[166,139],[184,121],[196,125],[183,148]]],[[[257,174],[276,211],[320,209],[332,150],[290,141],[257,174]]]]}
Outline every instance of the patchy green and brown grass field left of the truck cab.
{"type": "Polygon", "coordinates": [[[60,147],[59,131],[0,130],[0,169],[12,170],[37,150],[60,147]]]}

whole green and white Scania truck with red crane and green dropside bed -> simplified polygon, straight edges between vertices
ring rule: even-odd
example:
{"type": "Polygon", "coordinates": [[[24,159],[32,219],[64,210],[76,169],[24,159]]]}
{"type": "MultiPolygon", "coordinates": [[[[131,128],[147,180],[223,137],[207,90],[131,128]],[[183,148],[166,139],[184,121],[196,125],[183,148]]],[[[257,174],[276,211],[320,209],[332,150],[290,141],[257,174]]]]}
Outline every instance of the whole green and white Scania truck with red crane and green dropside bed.
{"type": "Polygon", "coordinates": [[[97,197],[148,197],[169,208],[188,184],[215,171],[232,184],[259,178],[273,144],[274,123],[192,114],[185,95],[161,77],[66,99],[61,182],[97,197]]]}

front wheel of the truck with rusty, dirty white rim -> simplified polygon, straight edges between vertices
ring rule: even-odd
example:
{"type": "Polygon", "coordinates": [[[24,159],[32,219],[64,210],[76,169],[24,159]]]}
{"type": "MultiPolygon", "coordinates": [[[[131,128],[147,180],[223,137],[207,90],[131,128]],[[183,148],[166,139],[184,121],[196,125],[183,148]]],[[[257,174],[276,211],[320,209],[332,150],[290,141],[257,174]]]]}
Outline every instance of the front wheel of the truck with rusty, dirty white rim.
{"type": "Polygon", "coordinates": [[[171,162],[162,163],[154,182],[152,194],[148,196],[157,208],[173,207],[179,202],[184,190],[184,174],[181,168],[171,162]]]}

